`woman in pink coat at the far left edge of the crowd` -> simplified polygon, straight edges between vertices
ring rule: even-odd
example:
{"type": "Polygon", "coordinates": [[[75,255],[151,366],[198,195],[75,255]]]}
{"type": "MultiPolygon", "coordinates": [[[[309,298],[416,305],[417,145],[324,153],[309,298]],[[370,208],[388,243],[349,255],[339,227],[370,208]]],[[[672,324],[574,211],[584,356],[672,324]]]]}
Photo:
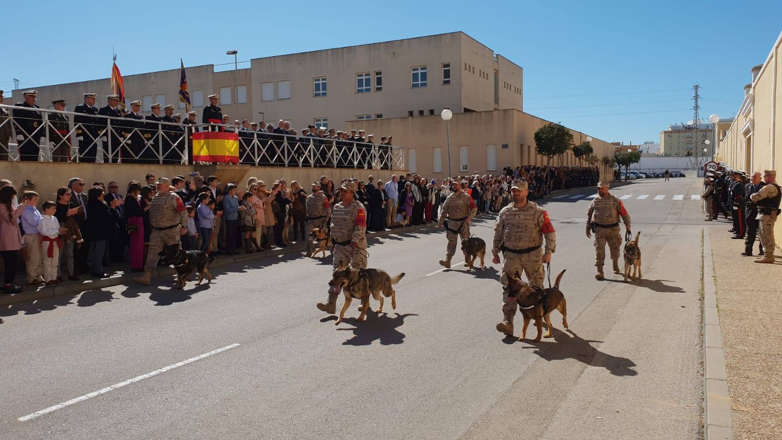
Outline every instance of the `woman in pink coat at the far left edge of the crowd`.
{"type": "Polygon", "coordinates": [[[22,287],[13,282],[16,277],[16,261],[22,248],[22,236],[19,231],[19,218],[27,208],[20,204],[14,209],[11,204],[16,196],[16,188],[6,185],[0,188],[0,256],[5,265],[2,293],[18,294],[22,287]]]}

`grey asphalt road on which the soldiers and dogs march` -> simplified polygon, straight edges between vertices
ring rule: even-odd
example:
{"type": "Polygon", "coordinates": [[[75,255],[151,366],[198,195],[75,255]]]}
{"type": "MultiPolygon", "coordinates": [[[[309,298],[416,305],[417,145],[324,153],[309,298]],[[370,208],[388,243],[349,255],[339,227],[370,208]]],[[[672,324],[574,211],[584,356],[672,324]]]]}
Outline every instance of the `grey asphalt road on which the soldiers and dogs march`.
{"type": "MultiPolygon", "coordinates": [[[[0,438],[699,438],[699,190],[612,189],[641,232],[636,283],[594,280],[590,202],[572,198],[594,191],[544,200],[571,327],[554,312],[540,343],[497,333],[499,266],[439,270],[434,229],[370,240],[370,267],[406,276],[396,310],[363,323],[356,305],[339,326],[317,310],[331,258],[295,255],[184,292],[158,280],[11,306],[0,438]]],[[[490,245],[492,225],[472,232],[490,245]]]]}

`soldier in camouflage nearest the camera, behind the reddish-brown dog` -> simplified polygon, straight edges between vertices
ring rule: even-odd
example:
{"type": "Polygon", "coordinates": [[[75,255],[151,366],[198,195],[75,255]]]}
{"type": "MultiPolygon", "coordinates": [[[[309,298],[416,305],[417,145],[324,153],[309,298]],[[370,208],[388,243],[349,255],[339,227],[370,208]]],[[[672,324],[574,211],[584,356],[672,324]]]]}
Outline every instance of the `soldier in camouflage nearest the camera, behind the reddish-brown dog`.
{"type": "MultiPolygon", "coordinates": [[[[492,262],[500,264],[500,251],[504,259],[500,283],[508,282],[508,272],[526,273],[533,286],[543,288],[543,264],[551,262],[551,254],[557,245],[557,235],[548,214],[535,202],[527,200],[527,182],[515,180],[511,185],[513,204],[502,208],[494,224],[492,262]],[[546,250],[540,247],[546,237],[546,250]]],[[[509,295],[508,287],[502,293],[503,321],[497,331],[513,336],[513,317],[516,315],[516,298],[509,295]]]]}

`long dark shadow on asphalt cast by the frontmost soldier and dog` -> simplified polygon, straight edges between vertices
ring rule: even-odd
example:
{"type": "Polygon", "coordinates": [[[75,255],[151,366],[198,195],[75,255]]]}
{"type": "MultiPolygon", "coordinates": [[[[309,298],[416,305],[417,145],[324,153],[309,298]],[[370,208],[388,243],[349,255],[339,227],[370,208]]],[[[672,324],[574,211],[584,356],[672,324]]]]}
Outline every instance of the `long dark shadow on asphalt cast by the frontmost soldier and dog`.
{"type": "MultiPolygon", "coordinates": [[[[530,323],[530,327],[531,328],[527,330],[527,334],[529,335],[529,331],[532,331],[534,336],[536,330],[533,323],[530,323]]],[[[524,348],[532,348],[535,350],[536,355],[539,355],[549,362],[576,359],[589,366],[602,367],[614,376],[636,376],[638,374],[636,370],[633,370],[633,367],[636,366],[635,362],[627,358],[601,352],[590,345],[590,342],[601,343],[603,341],[582,339],[572,330],[563,332],[554,328],[551,331],[554,334],[554,341],[556,341],[556,344],[551,344],[545,340],[540,342],[525,340],[525,342],[528,342],[532,346],[524,348]]]]}

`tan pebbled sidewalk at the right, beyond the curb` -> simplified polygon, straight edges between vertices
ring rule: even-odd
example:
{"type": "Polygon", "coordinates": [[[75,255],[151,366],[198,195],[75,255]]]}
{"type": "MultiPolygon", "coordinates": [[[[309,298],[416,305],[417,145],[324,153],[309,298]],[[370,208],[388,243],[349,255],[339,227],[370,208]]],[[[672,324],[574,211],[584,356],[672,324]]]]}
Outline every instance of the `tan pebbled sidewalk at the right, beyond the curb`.
{"type": "Polygon", "coordinates": [[[731,240],[726,229],[706,230],[734,438],[782,438],[782,258],[774,265],[755,264],[756,256],[740,255],[744,241],[731,240]]]}

